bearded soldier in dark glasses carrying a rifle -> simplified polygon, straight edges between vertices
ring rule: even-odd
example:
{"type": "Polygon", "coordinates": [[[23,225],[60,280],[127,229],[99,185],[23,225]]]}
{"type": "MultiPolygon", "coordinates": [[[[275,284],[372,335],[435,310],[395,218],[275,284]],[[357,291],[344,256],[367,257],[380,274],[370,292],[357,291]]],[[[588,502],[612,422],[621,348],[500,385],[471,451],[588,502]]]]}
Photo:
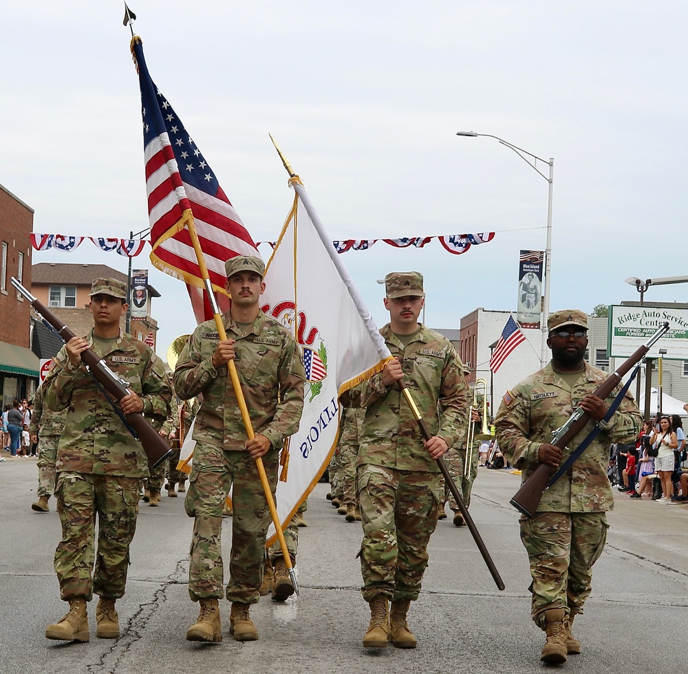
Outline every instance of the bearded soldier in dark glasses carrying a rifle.
{"type": "Polygon", "coordinates": [[[607,477],[610,444],[638,437],[642,419],[628,392],[609,422],[604,422],[618,390],[607,400],[592,395],[608,375],[583,360],[588,346],[585,313],[576,309],[556,312],[547,327],[552,360],[506,392],[495,426],[499,448],[523,471],[523,481],[539,464],[559,466],[595,423],[601,428],[568,474],[544,492],[535,516],[520,520],[533,576],[531,615],[547,635],[541,660],[557,663],[565,662],[568,654],[581,652],[571,623],[583,612],[590,595],[592,565],[607,538],[605,511],[614,507],[607,477]],[[550,444],[552,433],[579,406],[590,415],[590,422],[562,452],[550,444]]]}

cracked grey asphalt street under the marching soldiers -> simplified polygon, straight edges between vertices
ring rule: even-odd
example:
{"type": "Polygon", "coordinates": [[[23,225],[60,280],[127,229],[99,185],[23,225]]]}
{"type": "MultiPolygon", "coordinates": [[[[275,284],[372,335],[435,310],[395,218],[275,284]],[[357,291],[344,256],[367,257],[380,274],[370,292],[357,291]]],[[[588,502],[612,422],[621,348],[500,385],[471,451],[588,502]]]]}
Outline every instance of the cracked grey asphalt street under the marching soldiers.
{"type": "MultiPolygon", "coordinates": [[[[539,662],[544,636],[529,617],[528,562],[518,513],[508,504],[518,486],[519,477],[508,471],[480,468],[471,503],[505,591],[495,586],[470,532],[455,528],[451,517],[438,523],[423,591],[409,611],[417,649],[367,651],[361,646],[369,618],[356,559],[361,526],[336,514],[325,499],[325,484],[312,493],[305,513],[308,527],[300,530],[301,594],[283,604],[261,598],[251,611],[257,642],[233,640],[226,601],[221,604],[222,643],[185,640],[197,616],[187,591],[191,519],[181,498],[164,494],[158,508],[141,503],[127,594],[117,602],[122,635],[96,638],[93,602],[92,640],[72,644],[44,635],[45,626],[61,618],[66,606],[52,569],[60,539],[54,499],[51,512],[33,512],[35,461],[7,459],[0,463],[0,671],[506,674],[550,669],[539,662]]],[[[631,501],[617,493],[609,520],[592,596],[575,623],[583,652],[554,668],[591,674],[683,671],[688,506],[631,501]]],[[[231,522],[224,520],[225,559],[231,522]]]]}

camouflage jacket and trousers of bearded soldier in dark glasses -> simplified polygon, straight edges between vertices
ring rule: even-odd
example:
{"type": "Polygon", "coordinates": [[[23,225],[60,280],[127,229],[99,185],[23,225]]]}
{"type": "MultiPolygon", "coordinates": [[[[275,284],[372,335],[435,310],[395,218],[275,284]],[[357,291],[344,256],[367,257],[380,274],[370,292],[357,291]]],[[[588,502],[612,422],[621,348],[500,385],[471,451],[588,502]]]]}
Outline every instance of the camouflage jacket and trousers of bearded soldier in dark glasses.
{"type": "MultiPolygon", "coordinates": [[[[497,442],[504,457],[523,471],[522,481],[539,466],[541,444],[552,441],[552,433],[607,377],[607,373],[586,362],[585,371],[570,388],[550,362],[507,391],[495,418],[497,442]]],[[[618,390],[607,399],[609,405],[616,393],[618,390]]],[[[564,609],[567,615],[583,612],[590,595],[592,565],[607,538],[605,511],[614,507],[607,477],[610,443],[638,437],[641,424],[638,407],[627,393],[609,425],[568,475],[544,492],[535,516],[520,520],[521,540],[533,576],[531,615],[541,629],[545,628],[544,612],[548,609],[564,609]]],[[[594,421],[590,420],[563,450],[562,464],[593,427],[594,421]]]]}

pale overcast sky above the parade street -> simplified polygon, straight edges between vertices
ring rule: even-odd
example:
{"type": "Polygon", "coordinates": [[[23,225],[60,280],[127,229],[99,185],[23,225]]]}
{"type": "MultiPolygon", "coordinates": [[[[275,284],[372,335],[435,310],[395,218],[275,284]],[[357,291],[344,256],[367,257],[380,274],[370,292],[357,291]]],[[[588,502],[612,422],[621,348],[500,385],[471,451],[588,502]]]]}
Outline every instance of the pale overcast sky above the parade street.
{"type": "MultiPolygon", "coordinates": [[[[268,132],[332,239],[496,232],[460,256],[438,241],[345,253],[380,325],[376,279],[389,271],[422,272],[426,323],[458,329],[475,307],[515,310],[519,250],[545,248],[546,180],[496,140],[460,130],[555,158],[552,311],[635,300],[629,276],[688,274],[685,2],[131,9],[153,80],[256,241],[277,238],[292,200],[268,132]]],[[[4,3],[0,182],[34,208],[34,232],[128,238],[148,225],[123,14],[119,0],[4,3]]],[[[88,240],[74,253],[34,251],[33,262],[127,268],[88,240]]],[[[144,256],[133,264],[151,268],[144,256]]],[[[151,269],[151,283],[164,356],[193,317],[180,281],[151,269]]],[[[645,298],[685,301],[687,290],[645,298]]]]}

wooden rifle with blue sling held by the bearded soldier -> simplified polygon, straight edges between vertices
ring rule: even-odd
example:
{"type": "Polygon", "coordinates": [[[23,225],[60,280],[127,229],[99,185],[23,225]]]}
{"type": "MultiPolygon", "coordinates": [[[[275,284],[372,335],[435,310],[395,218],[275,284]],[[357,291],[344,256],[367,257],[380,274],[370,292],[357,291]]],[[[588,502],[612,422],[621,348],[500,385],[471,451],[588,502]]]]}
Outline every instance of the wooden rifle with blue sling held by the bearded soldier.
{"type": "MultiPolygon", "coordinates": [[[[654,343],[656,343],[668,329],[669,323],[664,323],[664,325],[655,332],[652,338],[650,338],[647,344],[638,347],[632,356],[621,364],[621,367],[610,374],[610,376],[594,390],[592,395],[605,400],[605,398],[607,398],[619,385],[625,373],[636,365],[636,363],[645,358],[647,351],[652,348],[654,343]]],[[[566,424],[563,424],[561,428],[557,428],[554,432],[552,445],[563,450],[563,448],[565,448],[566,445],[585,428],[585,425],[588,424],[588,420],[590,420],[590,415],[585,412],[582,407],[578,407],[568,418],[566,424]]],[[[513,499],[509,501],[511,505],[513,505],[516,510],[519,510],[519,512],[522,512],[526,517],[533,517],[544,490],[549,486],[550,477],[552,477],[555,472],[557,472],[556,467],[548,466],[548,464],[539,464],[539,466],[535,468],[535,472],[528,477],[521,488],[514,494],[513,499]]]]}

